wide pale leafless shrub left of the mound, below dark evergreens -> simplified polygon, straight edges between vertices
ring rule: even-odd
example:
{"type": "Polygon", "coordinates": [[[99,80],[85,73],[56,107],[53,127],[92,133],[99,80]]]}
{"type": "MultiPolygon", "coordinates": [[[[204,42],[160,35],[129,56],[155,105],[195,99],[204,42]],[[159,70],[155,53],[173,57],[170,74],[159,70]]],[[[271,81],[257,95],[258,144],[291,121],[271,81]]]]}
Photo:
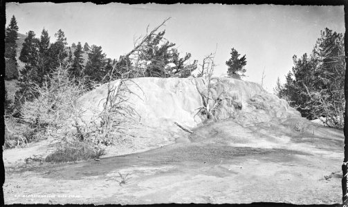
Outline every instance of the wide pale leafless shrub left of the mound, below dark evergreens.
{"type": "Polygon", "coordinates": [[[74,101],[86,90],[83,84],[75,84],[75,81],[69,79],[68,67],[57,68],[53,77],[48,77],[43,86],[31,89],[38,95],[37,99],[23,103],[21,121],[29,128],[22,134],[30,140],[71,135],[72,123],[79,115],[74,101]]]}

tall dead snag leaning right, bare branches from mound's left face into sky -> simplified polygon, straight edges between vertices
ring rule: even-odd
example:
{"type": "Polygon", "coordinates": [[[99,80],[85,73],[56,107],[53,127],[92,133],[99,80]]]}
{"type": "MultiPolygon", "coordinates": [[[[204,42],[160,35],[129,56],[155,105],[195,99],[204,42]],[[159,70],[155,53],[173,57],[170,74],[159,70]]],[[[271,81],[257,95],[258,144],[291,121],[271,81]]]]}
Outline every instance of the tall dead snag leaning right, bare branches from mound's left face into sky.
{"type": "MultiPolygon", "coordinates": [[[[98,118],[100,125],[98,130],[93,131],[93,137],[97,137],[98,142],[113,144],[114,137],[118,135],[129,135],[129,128],[138,123],[140,115],[132,106],[130,96],[138,97],[131,86],[140,89],[137,83],[132,79],[136,77],[144,77],[146,62],[142,61],[141,55],[149,48],[149,39],[156,36],[156,31],[165,25],[170,18],[165,19],[159,26],[148,32],[144,36],[140,36],[134,41],[134,48],[126,55],[122,55],[116,63],[113,64],[111,71],[103,78],[103,82],[107,82],[107,96],[100,101],[102,103],[102,112],[98,118]],[[118,80],[116,83],[111,81],[118,80]]],[[[143,92],[143,95],[144,92],[143,92]]]]}

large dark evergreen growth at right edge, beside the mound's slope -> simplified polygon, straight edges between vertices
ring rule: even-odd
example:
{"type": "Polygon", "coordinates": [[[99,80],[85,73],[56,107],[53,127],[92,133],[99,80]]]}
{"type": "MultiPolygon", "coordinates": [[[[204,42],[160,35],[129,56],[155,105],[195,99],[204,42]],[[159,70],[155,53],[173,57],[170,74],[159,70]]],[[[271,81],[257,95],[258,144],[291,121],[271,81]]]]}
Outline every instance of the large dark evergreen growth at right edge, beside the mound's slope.
{"type": "Polygon", "coordinates": [[[286,77],[280,97],[302,117],[326,117],[326,124],[342,127],[345,85],[345,52],[343,36],[328,28],[320,32],[313,51],[298,58],[294,55],[293,78],[286,77]]]}

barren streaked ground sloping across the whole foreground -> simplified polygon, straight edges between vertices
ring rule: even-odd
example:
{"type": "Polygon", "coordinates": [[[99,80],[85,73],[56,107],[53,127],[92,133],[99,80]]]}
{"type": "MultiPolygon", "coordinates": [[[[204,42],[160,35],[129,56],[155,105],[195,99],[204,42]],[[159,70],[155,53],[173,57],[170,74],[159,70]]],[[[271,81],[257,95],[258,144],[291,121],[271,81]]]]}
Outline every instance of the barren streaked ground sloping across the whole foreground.
{"type": "Polygon", "coordinates": [[[299,131],[293,121],[219,121],[146,152],[19,170],[6,166],[5,202],[340,203],[342,131],[305,121],[299,131]],[[128,174],[124,181],[119,172],[128,174]]]}

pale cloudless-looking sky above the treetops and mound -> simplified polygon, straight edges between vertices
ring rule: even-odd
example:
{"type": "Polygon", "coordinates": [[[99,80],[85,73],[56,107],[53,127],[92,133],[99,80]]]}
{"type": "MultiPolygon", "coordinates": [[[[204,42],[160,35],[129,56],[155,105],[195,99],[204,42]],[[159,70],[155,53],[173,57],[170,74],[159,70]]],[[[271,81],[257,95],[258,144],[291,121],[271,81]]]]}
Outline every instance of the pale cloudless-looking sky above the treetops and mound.
{"type": "Polygon", "coordinates": [[[6,3],[6,26],[15,15],[19,32],[33,30],[37,37],[46,28],[54,34],[62,29],[69,44],[80,41],[102,46],[107,57],[118,58],[134,46],[134,37],[145,34],[172,17],[163,29],[165,37],[185,52],[201,60],[214,52],[215,74],[226,74],[225,62],[231,48],[246,55],[245,80],[261,82],[273,92],[280,77],[293,66],[293,55],[311,52],[320,30],[345,32],[343,6],[272,6],[219,4],[139,4],[109,3],[6,3]]]}

